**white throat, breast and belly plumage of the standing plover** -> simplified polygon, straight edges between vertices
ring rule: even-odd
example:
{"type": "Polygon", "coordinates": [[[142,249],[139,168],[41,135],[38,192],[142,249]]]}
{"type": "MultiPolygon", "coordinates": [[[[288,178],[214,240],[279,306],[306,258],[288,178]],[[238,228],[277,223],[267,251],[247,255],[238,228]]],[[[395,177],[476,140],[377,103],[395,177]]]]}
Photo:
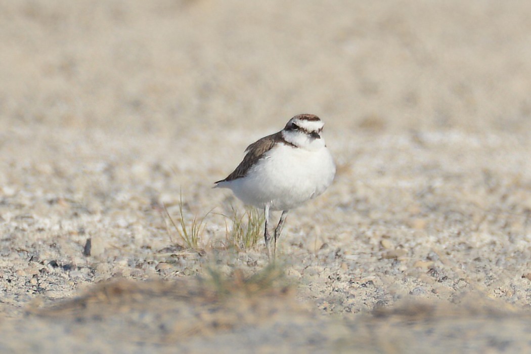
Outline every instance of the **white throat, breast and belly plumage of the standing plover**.
{"type": "Polygon", "coordinates": [[[323,193],[336,174],[324,139],[310,139],[300,132],[282,133],[286,140],[300,147],[278,143],[247,176],[219,183],[218,187],[232,189],[245,204],[259,208],[270,205],[271,210],[297,208],[323,193]]]}

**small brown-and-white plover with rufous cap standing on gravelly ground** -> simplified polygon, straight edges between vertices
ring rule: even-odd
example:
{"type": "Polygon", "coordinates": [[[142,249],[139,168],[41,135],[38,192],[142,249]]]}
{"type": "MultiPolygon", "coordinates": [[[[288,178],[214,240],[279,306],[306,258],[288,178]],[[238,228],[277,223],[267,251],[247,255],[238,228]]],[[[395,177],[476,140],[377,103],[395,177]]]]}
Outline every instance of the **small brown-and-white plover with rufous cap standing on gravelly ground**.
{"type": "Polygon", "coordinates": [[[321,136],[323,125],[313,114],[289,119],[280,132],[247,146],[238,167],[215,182],[215,188],[232,189],[245,204],[263,208],[268,249],[269,211],[282,211],[275,228],[273,254],[288,211],[323,193],[336,175],[336,165],[321,136]]]}

